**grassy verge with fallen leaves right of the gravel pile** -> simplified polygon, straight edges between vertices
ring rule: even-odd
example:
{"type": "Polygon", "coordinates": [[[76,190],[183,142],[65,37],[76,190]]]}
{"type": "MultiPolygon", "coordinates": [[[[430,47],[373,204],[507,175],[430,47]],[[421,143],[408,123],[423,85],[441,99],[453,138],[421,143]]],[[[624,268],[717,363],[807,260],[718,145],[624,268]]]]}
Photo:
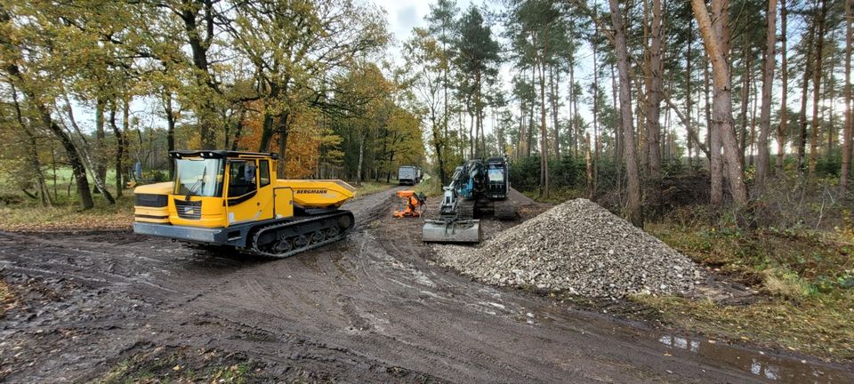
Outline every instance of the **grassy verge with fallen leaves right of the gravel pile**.
{"type": "Polygon", "coordinates": [[[753,300],[635,296],[660,320],[692,332],[810,355],[854,359],[854,267],[850,235],[799,228],[684,228],[653,235],[721,276],[753,286],[753,300]]]}

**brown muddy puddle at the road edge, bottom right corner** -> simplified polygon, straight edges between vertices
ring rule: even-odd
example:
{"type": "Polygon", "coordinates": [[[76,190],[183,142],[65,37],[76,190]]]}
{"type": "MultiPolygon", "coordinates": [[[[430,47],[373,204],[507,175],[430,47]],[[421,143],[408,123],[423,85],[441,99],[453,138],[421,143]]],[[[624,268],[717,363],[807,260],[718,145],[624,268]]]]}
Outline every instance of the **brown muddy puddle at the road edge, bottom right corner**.
{"type": "Polygon", "coordinates": [[[658,342],[670,349],[669,353],[672,355],[694,355],[708,364],[724,369],[750,372],[760,380],[779,383],[854,382],[852,372],[809,364],[806,360],[769,356],[765,352],[738,348],[721,342],[675,335],[663,335],[658,342]]]}

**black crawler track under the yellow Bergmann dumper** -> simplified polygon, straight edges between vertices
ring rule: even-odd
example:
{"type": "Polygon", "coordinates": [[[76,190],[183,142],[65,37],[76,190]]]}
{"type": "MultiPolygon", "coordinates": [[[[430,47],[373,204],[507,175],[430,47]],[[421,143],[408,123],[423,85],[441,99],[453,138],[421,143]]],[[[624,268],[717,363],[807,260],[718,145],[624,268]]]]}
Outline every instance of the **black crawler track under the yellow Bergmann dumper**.
{"type": "Polygon", "coordinates": [[[354,227],[350,211],[311,216],[254,229],[247,249],[255,254],[283,259],[342,240],[354,227]]]}

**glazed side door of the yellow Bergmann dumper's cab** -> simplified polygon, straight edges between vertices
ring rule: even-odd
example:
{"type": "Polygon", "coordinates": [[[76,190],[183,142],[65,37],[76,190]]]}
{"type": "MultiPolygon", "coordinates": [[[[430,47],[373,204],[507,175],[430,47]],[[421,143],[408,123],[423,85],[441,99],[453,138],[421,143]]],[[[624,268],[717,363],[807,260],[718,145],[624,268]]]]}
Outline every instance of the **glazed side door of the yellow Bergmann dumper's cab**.
{"type": "MultiPolygon", "coordinates": [[[[226,211],[229,225],[247,221],[264,220],[262,190],[258,174],[258,161],[255,159],[230,159],[229,184],[226,188],[226,211]]],[[[268,180],[269,178],[269,169],[268,180]]],[[[265,186],[265,188],[269,188],[265,186]]],[[[267,217],[269,218],[269,217],[267,217]]]]}

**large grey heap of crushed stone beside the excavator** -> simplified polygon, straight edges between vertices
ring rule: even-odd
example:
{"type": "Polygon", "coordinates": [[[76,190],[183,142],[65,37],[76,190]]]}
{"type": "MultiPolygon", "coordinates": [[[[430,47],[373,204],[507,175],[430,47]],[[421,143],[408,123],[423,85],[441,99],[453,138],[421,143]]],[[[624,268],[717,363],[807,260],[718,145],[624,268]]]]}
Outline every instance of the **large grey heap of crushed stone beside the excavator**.
{"type": "Polygon", "coordinates": [[[689,258],[586,199],[557,205],[479,248],[437,251],[447,266],[488,284],[595,298],[687,292],[703,278],[689,258]]]}

